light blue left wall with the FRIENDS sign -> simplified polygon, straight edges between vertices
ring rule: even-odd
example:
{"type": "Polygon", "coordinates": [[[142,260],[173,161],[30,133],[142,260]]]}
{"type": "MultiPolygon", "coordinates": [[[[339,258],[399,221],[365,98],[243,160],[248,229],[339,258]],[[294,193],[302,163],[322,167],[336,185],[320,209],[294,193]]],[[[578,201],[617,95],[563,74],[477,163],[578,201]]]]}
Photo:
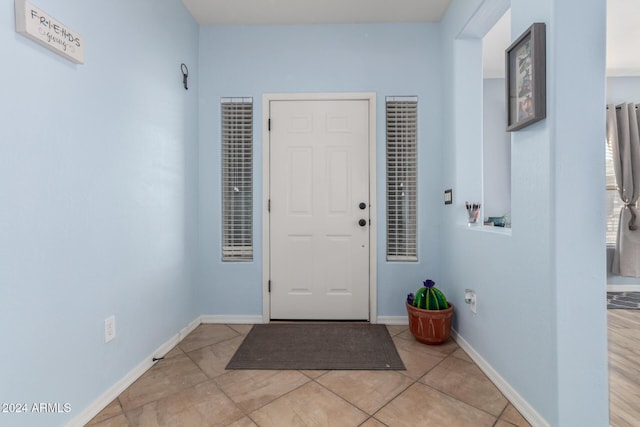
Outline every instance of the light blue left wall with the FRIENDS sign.
{"type": "Polygon", "coordinates": [[[0,1],[0,402],[71,412],[13,426],[65,424],[196,317],[197,24],[179,0],[35,3],[86,63],[0,1]]]}

